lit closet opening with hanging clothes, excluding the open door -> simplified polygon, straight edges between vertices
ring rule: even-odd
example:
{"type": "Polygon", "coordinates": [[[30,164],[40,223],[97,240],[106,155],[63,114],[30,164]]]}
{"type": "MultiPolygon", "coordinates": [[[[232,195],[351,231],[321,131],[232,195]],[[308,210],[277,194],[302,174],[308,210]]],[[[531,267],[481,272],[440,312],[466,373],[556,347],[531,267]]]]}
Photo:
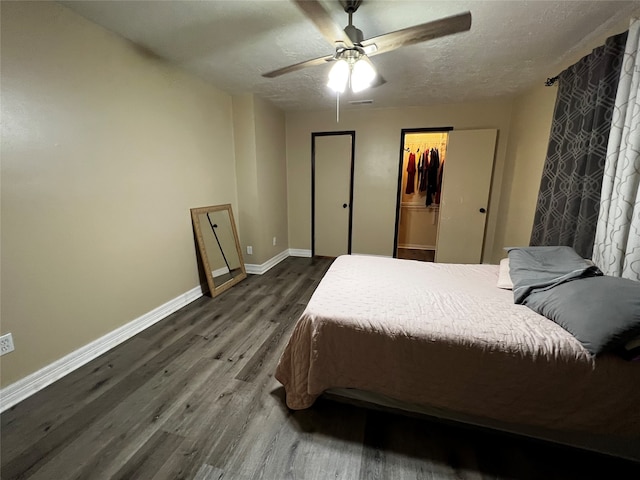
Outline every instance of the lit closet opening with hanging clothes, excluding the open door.
{"type": "Polygon", "coordinates": [[[433,262],[451,127],[403,129],[394,256],[433,262]]]}

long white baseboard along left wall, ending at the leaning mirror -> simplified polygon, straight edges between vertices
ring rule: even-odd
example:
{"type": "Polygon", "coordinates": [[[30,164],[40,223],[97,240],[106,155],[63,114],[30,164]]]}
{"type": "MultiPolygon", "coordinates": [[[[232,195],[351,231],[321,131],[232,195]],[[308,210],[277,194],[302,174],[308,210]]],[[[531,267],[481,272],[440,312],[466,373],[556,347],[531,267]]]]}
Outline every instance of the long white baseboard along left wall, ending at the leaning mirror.
{"type": "Polygon", "coordinates": [[[122,327],[116,328],[84,347],[56,360],[46,367],[41,368],[37,372],[7,385],[0,390],[0,412],[4,412],[13,407],[25,398],[30,397],[46,386],[51,385],[56,380],[89,363],[91,360],[111,350],[125,340],[130,339],[146,328],[149,328],[163,318],[168,317],[176,310],[181,309],[201,296],[202,287],[195,287],[122,327]]]}

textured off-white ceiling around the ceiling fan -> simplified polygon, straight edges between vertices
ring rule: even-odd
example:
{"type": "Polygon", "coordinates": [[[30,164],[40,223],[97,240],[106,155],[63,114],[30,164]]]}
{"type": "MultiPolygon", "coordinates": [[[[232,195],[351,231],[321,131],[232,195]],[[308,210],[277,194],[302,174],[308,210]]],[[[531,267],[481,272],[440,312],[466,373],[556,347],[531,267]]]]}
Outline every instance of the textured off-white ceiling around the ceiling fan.
{"type": "MultiPolygon", "coordinates": [[[[231,94],[253,92],[287,111],[335,106],[325,86],[329,65],[261,76],[333,53],[290,1],[60,3],[231,94]]],[[[348,23],[337,0],[323,3],[339,25],[348,23]]],[[[513,94],[559,73],[566,59],[639,8],[638,1],[604,0],[365,0],[353,17],[365,39],[464,11],[471,30],[373,57],[387,83],[345,94],[341,103],[422,106],[513,94]]]]}

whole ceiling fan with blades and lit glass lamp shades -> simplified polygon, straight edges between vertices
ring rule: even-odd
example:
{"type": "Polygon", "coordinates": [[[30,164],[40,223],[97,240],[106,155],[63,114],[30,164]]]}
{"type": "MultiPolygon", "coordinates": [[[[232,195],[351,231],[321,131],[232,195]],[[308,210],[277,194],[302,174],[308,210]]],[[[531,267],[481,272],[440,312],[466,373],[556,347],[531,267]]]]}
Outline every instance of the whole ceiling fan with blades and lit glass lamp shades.
{"type": "Polygon", "coordinates": [[[344,91],[347,83],[351,84],[354,92],[371,85],[385,83],[382,76],[375,71],[369,57],[434,38],[464,32],[471,28],[471,13],[465,12],[364,40],[362,31],[352,23],[353,14],[362,4],[362,0],[340,0],[344,11],[349,15],[349,25],[344,30],[334,23],[320,1],[293,1],[316,25],[320,33],[330,43],[335,44],[335,53],[279,68],[264,73],[262,76],[274,78],[306,67],[336,62],[329,73],[328,86],[337,92],[344,91]]]}

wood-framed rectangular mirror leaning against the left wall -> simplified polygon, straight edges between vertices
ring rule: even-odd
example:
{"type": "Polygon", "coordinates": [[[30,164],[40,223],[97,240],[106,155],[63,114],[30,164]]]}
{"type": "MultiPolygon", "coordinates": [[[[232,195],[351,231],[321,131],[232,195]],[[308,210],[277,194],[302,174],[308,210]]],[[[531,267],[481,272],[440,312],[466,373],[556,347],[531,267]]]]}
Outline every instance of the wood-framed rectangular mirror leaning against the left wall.
{"type": "Polygon", "coordinates": [[[231,204],[191,209],[198,251],[212,297],[247,278],[231,204]]]}

